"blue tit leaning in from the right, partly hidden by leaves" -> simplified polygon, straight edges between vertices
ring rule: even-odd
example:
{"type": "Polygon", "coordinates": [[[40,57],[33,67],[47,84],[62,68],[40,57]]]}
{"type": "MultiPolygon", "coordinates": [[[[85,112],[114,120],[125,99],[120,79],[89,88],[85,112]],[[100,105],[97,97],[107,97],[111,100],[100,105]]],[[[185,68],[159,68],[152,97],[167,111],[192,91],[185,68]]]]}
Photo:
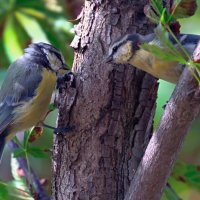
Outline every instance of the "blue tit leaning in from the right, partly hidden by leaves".
{"type": "MultiPolygon", "coordinates": [[[[170,38],[172,40],[172,38],[170,38]]],[[[200,39],[198,35],[179,35],[181,44],[191,55],[200,39]]],[[[115,41],[109,48],[109,55],[106,62],[114,62],[118,64],[131,64],[156,78],[163,79],[168,82],[176,83],[179,79],[184,66],[175,61],[162,60],[149,51],[140,48],[143,43],[158,45],[163,52],[169,51],[162,46],[154,33],[148,35],[127,34],[115,41]]],[[[174,43],[174,40],[172,40],[174,43]]],[[[180,53],[181,49],[174,46],[180,53]]]]}

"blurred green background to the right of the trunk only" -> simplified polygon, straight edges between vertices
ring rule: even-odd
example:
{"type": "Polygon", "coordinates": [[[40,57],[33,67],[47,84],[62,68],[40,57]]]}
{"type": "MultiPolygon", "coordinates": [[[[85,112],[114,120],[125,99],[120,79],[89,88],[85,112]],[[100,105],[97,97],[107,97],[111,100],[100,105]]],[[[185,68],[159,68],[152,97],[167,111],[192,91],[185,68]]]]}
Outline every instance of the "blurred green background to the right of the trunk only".
{"type": "MultiPolygon", "coordinates": [[[[198,9],[194,16],[179,20],[181,23],[181,33],[200,35],[200,0],[197,0],[198,9]]],[[[159,91],[157,99],[157,110],[155,116],[155,127],[163,113],[163,105],[170,98],[175,85],[159,80],[159,91]]],[[[193,122],[189,131],[179,160],[174,168],[172,176],[169,178],[171,187],[183,200],[200,199],[200,118],[193,122]]],[[[176,199],[173,195],[163,195],[163,199],[176,199]],[[167,198],[168,197],[168,198],[167,198]]]]}

